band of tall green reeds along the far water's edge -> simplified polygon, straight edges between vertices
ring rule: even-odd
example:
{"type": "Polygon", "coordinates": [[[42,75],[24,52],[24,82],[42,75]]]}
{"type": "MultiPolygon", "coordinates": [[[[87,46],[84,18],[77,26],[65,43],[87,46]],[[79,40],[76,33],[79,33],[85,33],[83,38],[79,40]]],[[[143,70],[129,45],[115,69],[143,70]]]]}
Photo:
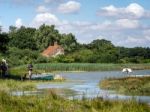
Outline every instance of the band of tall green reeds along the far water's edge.
{"type": "MultiPolygon", "coordinates": [[[[35,64],[34,69],[38,71],[110,71],[122,70],[129,67],[134,70],[150,69],[150,63],[147,64],[101,64],[101,63],[43,63],[35,64]]],[[[26,65],[15,68],[26,70],[26,65]]]]}

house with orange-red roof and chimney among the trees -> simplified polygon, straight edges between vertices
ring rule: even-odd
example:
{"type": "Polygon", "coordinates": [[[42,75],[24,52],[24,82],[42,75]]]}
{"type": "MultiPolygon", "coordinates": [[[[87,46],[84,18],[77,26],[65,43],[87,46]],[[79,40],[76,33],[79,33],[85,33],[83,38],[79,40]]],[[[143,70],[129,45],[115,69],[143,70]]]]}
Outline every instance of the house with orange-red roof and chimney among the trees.
{"type": "Polygon", "coordinates": [[[42,55],[45,57],[56,57],[58,55],[63,55],[64,49],[57,44],[57,42],[54,43],[53,46],[49,46],[47,49],[45,49],[42,52],[42,55]]]}

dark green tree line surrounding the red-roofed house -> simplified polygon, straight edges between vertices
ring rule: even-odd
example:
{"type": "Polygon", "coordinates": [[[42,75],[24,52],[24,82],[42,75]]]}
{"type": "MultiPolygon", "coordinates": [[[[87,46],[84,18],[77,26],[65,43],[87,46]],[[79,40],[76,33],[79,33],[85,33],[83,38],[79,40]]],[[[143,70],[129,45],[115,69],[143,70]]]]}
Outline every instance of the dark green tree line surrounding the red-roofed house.
{"type": "Polygon", "coordinates": [[[62,34],[54,25],[41,25],[38,29],[21,26],[0,32],[0,58],[12,65],[33,63],[149,63],[150,48],[118,47],[105,39],[81,44],[72,33],[62,34]],[[46,58],[41,52],[54,42],[60,44],[65,55],[46,58]]]}

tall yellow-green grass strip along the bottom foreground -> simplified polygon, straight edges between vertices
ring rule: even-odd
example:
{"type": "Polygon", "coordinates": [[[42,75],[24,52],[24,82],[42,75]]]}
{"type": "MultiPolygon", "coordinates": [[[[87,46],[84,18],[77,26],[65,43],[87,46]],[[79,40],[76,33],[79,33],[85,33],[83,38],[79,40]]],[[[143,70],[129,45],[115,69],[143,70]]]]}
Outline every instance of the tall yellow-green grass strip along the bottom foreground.
{"type": "Polygon", "coordinates": [[[150,112],[147,104],[106,101],[102,98],[68,100],[49,92],[44,97],[11,96],[0,92],[0,112],[150,112]]]}

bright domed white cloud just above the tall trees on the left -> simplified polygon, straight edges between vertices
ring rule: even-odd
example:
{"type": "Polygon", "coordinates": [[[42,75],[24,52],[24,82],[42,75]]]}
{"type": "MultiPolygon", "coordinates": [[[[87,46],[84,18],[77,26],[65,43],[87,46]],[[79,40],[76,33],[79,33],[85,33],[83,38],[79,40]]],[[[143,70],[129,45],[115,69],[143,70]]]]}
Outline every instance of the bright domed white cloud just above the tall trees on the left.
{"type": "Polygon", "coordinates": [[[40,26],[42,24],[59,24],[58,18],[51,14],[51,13],[40,13],[35,16],[35,18],[32,21],[33,26],[40,26]]]}

